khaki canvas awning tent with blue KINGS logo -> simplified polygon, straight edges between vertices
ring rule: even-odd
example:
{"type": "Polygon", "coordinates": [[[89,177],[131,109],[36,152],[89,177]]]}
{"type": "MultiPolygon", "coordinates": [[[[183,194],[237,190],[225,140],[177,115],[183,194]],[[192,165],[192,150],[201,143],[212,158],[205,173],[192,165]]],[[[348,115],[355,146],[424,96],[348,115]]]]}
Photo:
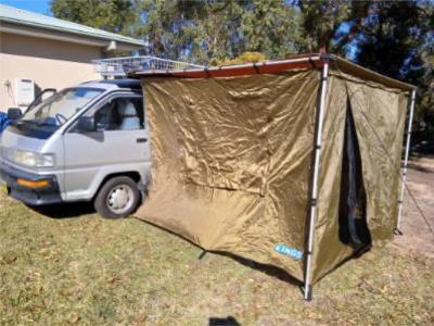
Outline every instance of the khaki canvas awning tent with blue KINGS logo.
{"type": "Polygon", "coordinates": [[[413,86],[320,54],[132,76],[153,155],[139,218],[282,268],[306,299],[398,229],[413,86]]]}

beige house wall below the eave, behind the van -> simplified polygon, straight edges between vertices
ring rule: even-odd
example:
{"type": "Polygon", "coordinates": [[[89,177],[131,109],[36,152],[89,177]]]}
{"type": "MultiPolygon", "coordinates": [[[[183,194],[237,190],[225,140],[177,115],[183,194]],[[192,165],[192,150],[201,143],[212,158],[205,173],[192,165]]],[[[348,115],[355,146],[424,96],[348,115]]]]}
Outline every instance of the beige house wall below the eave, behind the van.
{"type": "Polygon", "coordinates": [[[34,79],[37,90],[62,89],[101,78],[90,63],[100,58],[99,47],[0,33],[0,111],[16,106],[15,78],[34,79]]]}

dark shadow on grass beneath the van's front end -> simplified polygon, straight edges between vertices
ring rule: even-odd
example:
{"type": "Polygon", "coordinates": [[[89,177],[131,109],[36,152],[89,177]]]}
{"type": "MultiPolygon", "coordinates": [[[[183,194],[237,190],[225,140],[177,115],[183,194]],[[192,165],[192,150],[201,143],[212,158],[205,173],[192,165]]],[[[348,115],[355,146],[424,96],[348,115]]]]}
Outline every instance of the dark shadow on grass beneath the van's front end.
{"type": "Polygon", "coordinates": [[[95,212],[92,203],[86,201],[28,208],[50,218],[73,218],[95,212]]]}

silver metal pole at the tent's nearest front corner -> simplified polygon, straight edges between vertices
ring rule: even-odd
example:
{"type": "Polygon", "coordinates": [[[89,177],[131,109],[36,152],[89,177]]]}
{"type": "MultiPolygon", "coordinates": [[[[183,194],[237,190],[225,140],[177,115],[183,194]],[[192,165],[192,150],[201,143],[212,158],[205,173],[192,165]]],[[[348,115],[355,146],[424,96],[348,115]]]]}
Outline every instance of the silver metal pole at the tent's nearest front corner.
{"type": "Polygon", "coordinates": [[[317,214],[318,203],[318,179],[319,168],[321,161],[321,142],[322,142],[322,125],[324,120],[326,110],[326,95],[327,95],[327,82],[329,77],[329,63],[326,62],[322,67],[321,75],[321,90],[320,101],[317,113],[316,130],[315,130],[315,153],[314,153],[314,175],[311,178],[310,187],[310,210],[309,210],[309,233],[307,235],[307,255],[306,255],[306,268],[305,268],[305,285],[304,285],[304,298],[305,300],[311,300],[312,298],[312,286],[311,286],[311,261],[312,261],[312,249],[314,249],[314,236],[315,236],[315,218],[317,214]]]}

